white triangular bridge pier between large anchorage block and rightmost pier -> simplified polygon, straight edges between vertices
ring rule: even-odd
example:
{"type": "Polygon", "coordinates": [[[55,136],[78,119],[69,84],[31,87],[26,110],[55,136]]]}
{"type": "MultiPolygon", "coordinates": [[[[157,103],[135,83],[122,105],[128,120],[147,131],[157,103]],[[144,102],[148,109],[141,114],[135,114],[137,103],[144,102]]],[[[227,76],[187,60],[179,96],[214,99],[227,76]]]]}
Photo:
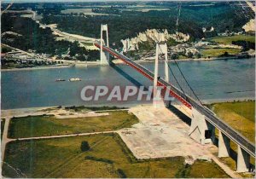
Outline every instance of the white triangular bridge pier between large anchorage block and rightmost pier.
{"type": "Polygon", "coordinates": [[[230,156],[230,139],[218,130],[218,157],[230,156]]]}

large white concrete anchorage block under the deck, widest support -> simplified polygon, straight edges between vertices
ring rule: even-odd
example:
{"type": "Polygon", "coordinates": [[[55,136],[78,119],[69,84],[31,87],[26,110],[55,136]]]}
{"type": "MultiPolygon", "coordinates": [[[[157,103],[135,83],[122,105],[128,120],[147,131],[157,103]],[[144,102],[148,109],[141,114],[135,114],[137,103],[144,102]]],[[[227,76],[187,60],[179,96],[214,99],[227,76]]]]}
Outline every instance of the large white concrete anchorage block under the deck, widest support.
{"type": "Polygon", "coordinates": [[[189,136],[201,144],[212,143],[215,140],[215,127],[193,107],[189,136]]]}

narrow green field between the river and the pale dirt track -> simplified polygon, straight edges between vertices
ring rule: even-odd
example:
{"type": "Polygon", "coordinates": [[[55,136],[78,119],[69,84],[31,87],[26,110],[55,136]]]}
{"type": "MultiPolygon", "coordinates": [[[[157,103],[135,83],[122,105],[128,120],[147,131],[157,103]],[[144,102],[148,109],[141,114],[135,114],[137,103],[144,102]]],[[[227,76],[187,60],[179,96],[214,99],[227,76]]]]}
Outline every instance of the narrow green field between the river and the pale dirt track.
{"type": "Polygon", "coordinates": [[[137,123],[137,117],[127,111],[109,112],[108,116],[90,118],[61,119],[54,116],[12,118],[9,124],[9,137],[55,136],[119,130],[137,123]]]}

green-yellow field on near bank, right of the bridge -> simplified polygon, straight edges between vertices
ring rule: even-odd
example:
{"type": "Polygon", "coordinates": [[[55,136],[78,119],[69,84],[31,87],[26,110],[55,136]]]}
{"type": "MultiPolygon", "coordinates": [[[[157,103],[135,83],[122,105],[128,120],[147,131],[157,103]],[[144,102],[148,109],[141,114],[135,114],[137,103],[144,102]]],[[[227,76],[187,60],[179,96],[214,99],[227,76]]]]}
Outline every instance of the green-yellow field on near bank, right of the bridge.
{"type": "Polygon", "coordinates": [[[213,111],[235,130],[255,143],[255,101],[212,105],[213,111]]]}

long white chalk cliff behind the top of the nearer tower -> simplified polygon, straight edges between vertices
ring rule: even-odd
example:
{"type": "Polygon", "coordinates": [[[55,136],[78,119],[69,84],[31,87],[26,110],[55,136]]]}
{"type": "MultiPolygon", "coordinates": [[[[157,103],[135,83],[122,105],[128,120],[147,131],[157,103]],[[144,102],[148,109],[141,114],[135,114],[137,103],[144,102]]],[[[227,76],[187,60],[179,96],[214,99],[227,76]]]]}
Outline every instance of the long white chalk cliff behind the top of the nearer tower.
{"type": "Polygon", "coordinates": [[[164,42],[169,40],[170,38],[174,39],[176,42],[183,43],[189,40],[189,34],[183,34],[182,32],[176,32],[175,34],[169,34],[167,29],[164,31],[159,31],[156,29],[148,29],[145,32],[139,32],[137,37],[135,38],[126,38],[125,40],[121,40],[123,43],[123,51],[131,51],[139,49],[139,43],[154,41],[156,42],[164,42]]]}

